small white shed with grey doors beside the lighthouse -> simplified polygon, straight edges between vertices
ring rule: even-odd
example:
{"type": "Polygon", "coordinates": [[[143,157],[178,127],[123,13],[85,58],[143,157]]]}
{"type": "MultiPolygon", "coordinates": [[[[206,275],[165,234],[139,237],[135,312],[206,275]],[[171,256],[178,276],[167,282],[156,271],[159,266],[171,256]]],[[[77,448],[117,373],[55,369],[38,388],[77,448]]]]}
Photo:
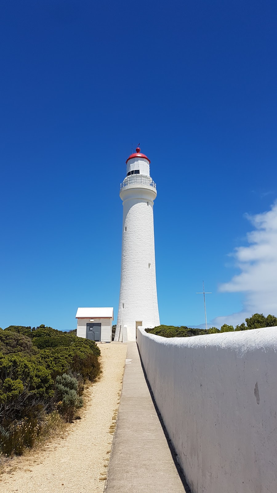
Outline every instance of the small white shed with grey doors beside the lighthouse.
{"type": "Polygon", "coordinates": [[[111,342],[113,308],[78,308],[77,336],[97,342],[111,342]]]}

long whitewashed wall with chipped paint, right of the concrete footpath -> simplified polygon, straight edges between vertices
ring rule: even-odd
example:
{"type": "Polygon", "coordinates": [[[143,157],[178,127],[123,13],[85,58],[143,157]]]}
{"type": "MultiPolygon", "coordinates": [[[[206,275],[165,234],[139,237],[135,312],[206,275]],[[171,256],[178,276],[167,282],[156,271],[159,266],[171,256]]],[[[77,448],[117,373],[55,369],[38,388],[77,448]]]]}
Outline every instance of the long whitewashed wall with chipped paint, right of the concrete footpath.
{"type": "Polygon", "coordinates": [[[276,493],[277,327],[138,347],[192,493],[276,493]]]}

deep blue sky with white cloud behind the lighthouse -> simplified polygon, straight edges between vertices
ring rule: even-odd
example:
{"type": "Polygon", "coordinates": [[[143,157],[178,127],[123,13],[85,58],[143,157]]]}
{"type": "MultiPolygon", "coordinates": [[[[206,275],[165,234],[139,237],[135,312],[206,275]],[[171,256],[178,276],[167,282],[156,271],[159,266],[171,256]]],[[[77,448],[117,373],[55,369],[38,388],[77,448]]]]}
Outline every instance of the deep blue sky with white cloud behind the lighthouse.
{"type": "Polygon", "coordinates": [[[160,321],[277,315],[277,3],[2,0],[0,326],[113,306],[140,142],[160,321]],[[169,172],[170,170],[170,172],[169,172]]]}

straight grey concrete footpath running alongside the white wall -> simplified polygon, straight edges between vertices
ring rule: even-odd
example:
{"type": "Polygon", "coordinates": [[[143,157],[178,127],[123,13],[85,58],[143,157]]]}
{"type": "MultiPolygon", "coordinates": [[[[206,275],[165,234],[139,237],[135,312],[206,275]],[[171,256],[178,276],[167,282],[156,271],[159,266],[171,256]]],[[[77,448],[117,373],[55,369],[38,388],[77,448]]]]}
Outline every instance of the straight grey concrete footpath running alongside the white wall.
{"type": "Polygon", "coordinates": [[[141,366],[128,342],[122,394],[105,493],[189,493],[174,462],[141,366]]]}

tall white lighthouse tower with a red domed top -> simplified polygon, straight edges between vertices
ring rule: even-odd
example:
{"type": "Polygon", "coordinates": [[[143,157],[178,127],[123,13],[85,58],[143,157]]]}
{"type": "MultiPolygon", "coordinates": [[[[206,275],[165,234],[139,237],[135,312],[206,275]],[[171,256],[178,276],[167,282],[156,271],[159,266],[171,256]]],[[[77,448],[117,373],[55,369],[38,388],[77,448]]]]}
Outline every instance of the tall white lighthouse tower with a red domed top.
{"type": "Polygon", "coordinates": [[[131,154],[120,185],[123,201],[121,280],[115,341],[135,341],[137,328],[160,325],[155,268],[153,205],[156,183],[150,159],[131,154]]]}

